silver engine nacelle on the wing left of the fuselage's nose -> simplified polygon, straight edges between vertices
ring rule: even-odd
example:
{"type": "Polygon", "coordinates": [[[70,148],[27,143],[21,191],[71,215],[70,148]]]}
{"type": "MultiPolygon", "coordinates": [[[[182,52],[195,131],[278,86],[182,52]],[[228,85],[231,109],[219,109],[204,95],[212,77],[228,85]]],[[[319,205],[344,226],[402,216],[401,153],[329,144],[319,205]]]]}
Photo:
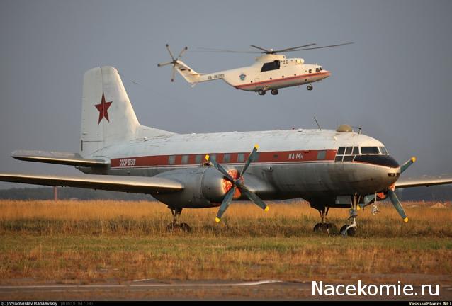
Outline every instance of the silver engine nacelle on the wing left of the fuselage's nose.
{"type": "MultiPolygon", "coordinates": [[[[235,169],[228,171],[232,177],[237,177],[235,169]]],[[[213,167],[196,167],[166,171],[156,177],[180,181],[183,190],[174,193],[152,194],[157,200],[171,207],[209,208],[219,206],[232,183],[213,167]]],[[[239,198],[236,189],[234,198],[239,198]]]]}

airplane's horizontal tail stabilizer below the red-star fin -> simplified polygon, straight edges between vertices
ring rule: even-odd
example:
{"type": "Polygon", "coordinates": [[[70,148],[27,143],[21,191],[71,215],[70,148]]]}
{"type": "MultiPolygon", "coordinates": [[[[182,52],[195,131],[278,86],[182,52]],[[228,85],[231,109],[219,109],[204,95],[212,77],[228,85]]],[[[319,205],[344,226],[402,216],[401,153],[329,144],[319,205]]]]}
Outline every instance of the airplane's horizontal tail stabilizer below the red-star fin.
{"type": "Polygon", "coordinates": [[[69,166],[106,167],[110,159],[85,159],[78,153],[45,152],[45,151],[14,151],[11,155],[15,159],[27,162],[44,162],[48,164],[64,164],[69,166]]]}

